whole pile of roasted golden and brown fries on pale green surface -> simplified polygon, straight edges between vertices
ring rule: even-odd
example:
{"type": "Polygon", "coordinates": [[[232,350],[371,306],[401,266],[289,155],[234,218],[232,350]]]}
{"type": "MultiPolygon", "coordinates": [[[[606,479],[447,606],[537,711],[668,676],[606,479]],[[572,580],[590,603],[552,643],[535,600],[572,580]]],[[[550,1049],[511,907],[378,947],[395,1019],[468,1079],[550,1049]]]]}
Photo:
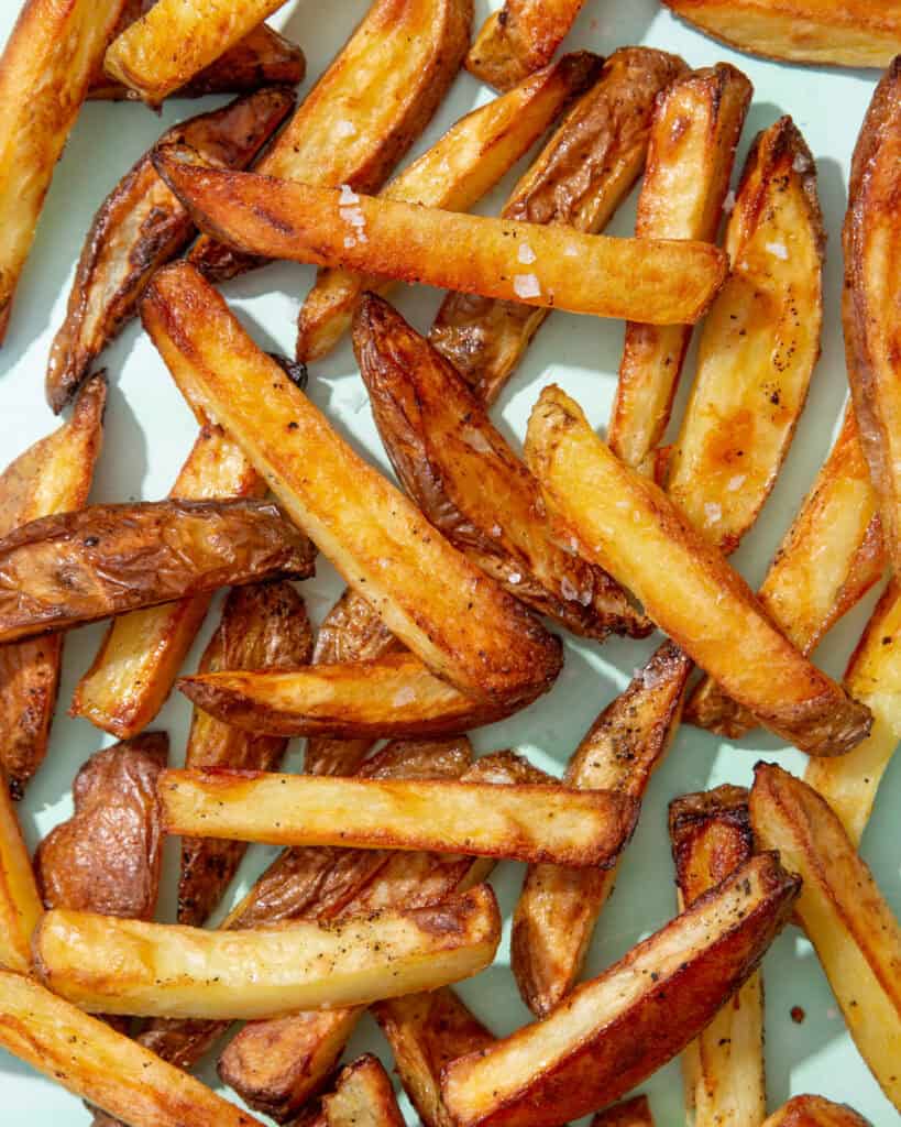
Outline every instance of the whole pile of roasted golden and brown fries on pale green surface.
{"type": "Polygon", "coordinates": [[[761,962],[794,924],[901,1111],[901,926],[858,853],[901,738],[901,8],[666,0],[741,50],[887,66],[841,239],[850,402],[755,593],[728,557],[823,325],[797,124],[769,122],[731,188],[747,76],[557,54],[581,0],[507,0],[474,41],[471,0],[372,0],[298,99],[303,53],[264,23],[280,2],[24,0],[0,61],[0,337],[82,104],[235,96],[98,201],[47,356],[66,418],[0,474],[0,1047],[95,1127],[259,1127],[191,1076],[214,1046],[277,1122],[401,1127],[380,1061],[345,1059],[367,1011],[425,1127],[653,1127],[634,1090],[679,1055],[695,1127],[865,1127],[820,1095],[771,1108],[761,962]],[[464,66],[499,92],[395,172],[464,66]],[[471,214],[527,154],[500,215],[471,214]],[[634,237],[605,234],[636,183],[634,237]],[[276,259],[319,267],[295,358],[216,289],[276,259]],[[399,282],[449,291],[427,335],[390,304],[399,282]],[[550,382],[520,454],[491,408],[556,309],[626,322],[606,441],[550,382]],[[96,365],[135,319],[197,438],[167,498],[89,504],[117,426],[96,365]],[[396,485],[306,393],[346,336],[396,485]],[[298,582],[319,558],[347,586],[316,624],[298,582]],[[838,682],[811,653],[886,575],[838,682]],[[100,620],[63,706],[119,742],[30,855],[16,801],[63,641],[100,620]],[[654,629],[562,780],[475,755],[473,729],[553,716],[561,635],[654,629]],[[173,689],[194,707],[184,755],[154,729],[173,689]],[[750,788],[667,796],[672,919],[586,978],[683,720],[733,740],[762,725],[805,778],[761,762],[750,788]],[[282,770],[293,737],[302,773],[282,770]],[[158,919],[167,836],[177,921],[158,919]],[[232,903],[251,843],[282,851],[232,903]],[[453,985],[496,960],[503,860],[526,867],[510,950],[534,1020],[496,1037],[453,985]]]}

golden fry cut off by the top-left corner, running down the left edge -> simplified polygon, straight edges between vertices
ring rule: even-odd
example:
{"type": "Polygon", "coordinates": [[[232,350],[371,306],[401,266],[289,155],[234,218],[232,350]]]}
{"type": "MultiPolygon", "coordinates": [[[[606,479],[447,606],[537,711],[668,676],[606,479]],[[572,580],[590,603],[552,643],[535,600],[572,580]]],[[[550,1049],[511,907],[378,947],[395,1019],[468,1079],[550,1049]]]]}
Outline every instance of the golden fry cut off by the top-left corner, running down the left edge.
{"type": "Polygon", "coordinates": [[[0,56],[0,344],[56,161],[125,0],[26,0],[0,56]]]}

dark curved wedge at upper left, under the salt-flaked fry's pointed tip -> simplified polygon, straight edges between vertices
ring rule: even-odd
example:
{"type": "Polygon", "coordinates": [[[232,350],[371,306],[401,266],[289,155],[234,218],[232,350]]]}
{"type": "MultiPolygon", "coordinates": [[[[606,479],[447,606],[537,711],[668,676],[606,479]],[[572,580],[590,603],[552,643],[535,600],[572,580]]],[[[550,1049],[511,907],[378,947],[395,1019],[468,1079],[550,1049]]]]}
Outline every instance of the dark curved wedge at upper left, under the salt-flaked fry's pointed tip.
{"type": "MultiPolygon", "coordinates": [[[[168,130],[211,165],[246,168],[294,106],[286,87],[259,90],[168,130]]],[[[104,347],[136,312],[150,276],[191,241],[190,216],[145,153],[106,197],[81,251],[65,320],[51,347],[47,401],[57,414],[104,347]]]]}

